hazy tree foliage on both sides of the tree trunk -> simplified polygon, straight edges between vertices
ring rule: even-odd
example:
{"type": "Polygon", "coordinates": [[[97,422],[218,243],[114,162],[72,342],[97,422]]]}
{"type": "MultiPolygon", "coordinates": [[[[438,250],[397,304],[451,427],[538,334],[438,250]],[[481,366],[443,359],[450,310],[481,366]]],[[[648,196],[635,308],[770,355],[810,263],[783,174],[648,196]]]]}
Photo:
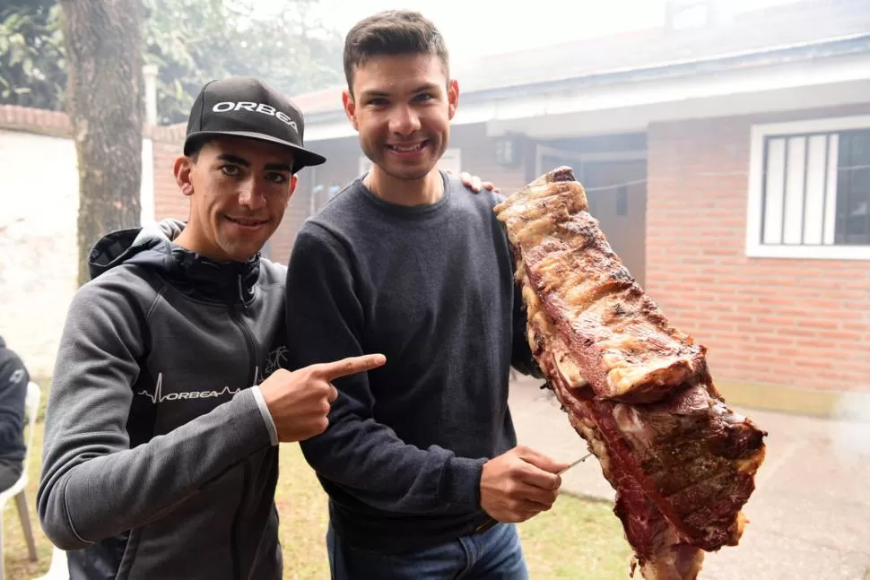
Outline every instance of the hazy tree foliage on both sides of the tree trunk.
{"type": "MultiPolygon", "coordinates": [[[[317,0],[139,0],[144,63],[158,66],[161,124],[179,123],[202,85],[249,74],[288,94],[342,80],[342,39],[312,16],[317,0]]],[[[57,0],[0,4],[0,104],[66,108],[57,0]]]]}

